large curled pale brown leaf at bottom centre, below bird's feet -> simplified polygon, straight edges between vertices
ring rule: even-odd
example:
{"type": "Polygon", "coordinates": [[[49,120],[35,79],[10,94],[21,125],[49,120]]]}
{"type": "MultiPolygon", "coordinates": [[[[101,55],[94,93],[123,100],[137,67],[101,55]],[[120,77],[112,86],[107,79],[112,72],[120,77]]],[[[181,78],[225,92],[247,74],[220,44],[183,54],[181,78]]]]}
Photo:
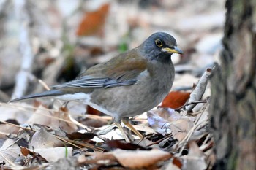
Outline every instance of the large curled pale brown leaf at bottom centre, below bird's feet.
{"type": "Polygon", "coordinates": [[[145,168],[173,156],[169,152],[157,149],[149,151],[114,150],[111,153],[116,157],[116,159],[119,163],[121,163],[122,166],[132,169],[145,168]]]}

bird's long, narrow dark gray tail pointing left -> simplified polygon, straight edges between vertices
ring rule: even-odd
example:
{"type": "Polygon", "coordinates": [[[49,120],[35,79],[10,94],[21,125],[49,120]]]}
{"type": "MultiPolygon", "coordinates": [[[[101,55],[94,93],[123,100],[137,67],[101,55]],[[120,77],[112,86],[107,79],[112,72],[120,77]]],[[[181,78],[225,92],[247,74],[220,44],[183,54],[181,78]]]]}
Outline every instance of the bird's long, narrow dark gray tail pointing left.
{"type": "Polygon", "coordinates": [[[61,91],[61,90],[48,90],[48,91],[44,91],[42,93],[29,94],[27,96],[23,96],[23,97],[20,97],[20,98],[15,98],[15,99],[12,99],[9,102],[23,101],[23,100],[28,100],[28,99],[31,99],[31,98],[60,96],[60,95],[64,95],[64,92],[61,91]]]}

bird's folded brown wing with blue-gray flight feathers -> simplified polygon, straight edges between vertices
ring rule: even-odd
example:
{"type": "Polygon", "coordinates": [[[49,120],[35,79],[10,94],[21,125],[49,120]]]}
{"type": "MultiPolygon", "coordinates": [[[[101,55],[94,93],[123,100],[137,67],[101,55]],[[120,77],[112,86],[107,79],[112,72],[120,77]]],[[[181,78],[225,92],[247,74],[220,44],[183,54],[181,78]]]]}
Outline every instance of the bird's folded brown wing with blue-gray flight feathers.
{"type": "Polygon", "coordinates": [[[56,85],[53,88],[110,88],[133,85],[138,75],[146,70],[147,61],[129,50],[106,63],[100,63],[86,70],[76,80],[56,85]]]}

